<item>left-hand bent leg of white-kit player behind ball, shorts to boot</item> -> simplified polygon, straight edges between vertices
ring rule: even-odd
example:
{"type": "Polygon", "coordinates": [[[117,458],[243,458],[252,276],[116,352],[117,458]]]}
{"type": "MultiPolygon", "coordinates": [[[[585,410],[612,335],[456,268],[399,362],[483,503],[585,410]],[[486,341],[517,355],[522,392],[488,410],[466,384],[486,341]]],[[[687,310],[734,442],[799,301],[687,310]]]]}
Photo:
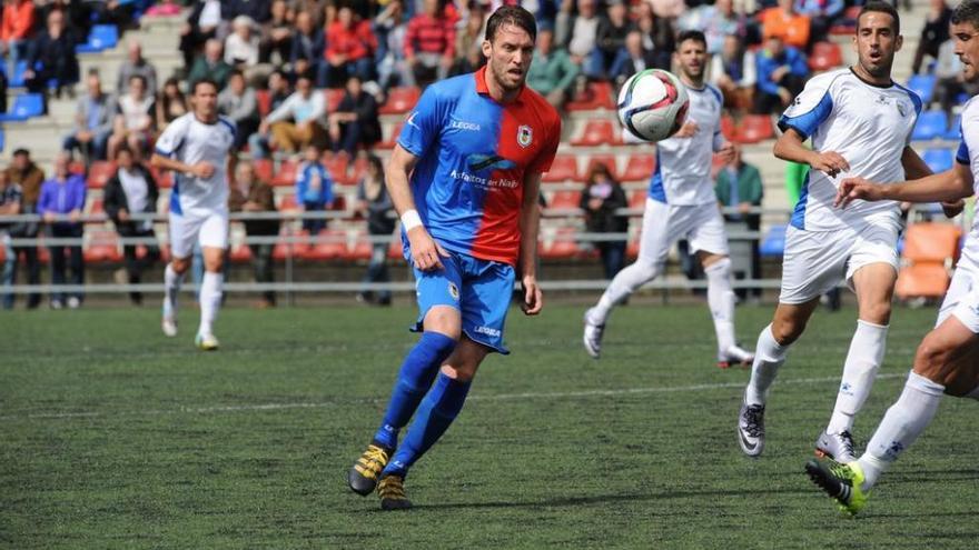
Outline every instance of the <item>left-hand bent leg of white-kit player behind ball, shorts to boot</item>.
{"type": "Polygon", "coordinates": [[[593,358],[597,359],[601,353],[605,321],[612,309],[662,272],[673,234],[670,213],[668,204],[646,199],[639,258],[612,279],[599,303],[585,312],[584,344],[593,358]]]}

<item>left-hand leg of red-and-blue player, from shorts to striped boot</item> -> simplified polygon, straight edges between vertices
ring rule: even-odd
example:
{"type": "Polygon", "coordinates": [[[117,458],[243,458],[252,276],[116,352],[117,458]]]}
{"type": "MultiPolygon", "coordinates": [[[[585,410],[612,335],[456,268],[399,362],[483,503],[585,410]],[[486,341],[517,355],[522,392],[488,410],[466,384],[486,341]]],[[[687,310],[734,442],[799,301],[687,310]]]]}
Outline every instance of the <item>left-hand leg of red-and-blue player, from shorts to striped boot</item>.
{"type": "Polygon", "coordinates": [[[380,427],[349,471],[350,489],[359,494],[366,496],[376,487],[398,446],[398,433],[415,414],[462,333],[462,274],[455,257],[443,259],[443,266],[445,269],[437,271],[415,270],[422,338],[405,356],[380,427]]]}

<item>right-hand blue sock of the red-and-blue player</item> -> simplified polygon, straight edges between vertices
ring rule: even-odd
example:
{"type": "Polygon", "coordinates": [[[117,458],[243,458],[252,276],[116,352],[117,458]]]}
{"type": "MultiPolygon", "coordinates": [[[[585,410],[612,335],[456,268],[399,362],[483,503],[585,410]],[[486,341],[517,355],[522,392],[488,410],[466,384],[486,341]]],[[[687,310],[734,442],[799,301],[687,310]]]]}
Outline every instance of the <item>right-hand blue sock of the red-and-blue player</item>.
{"type": "Polygon", "coordinates": [[[463,409],[471,384],[472,382],[461,382],[444,373],[438,376],[438,380],[418,407],[408,434],[384,469],[384,476],[394,473],[404,477],[408,468],[438,441],[463,409]]]}

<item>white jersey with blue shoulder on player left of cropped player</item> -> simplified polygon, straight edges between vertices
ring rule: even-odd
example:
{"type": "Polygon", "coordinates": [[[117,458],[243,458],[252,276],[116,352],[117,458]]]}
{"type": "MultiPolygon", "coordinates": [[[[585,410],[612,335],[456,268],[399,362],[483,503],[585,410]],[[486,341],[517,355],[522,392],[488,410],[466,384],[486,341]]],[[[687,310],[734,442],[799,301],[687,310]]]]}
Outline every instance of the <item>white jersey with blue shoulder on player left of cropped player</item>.
{"type": "Polygon", "coordinates": [[[812,138],[815,151],[835,151],[850,171],[830,178],[810,170],[792,226],[807,231],[832,231],[864,223],[900,223],[894,201],[854,201],[833,208],[843,178],[896,182],[904,179],[901,156],[921,112],[921,99],[899,84],[880,87],[861,80],[851,69],[812,78],[779,120],[783,131],[793,129],[812,138]]]}

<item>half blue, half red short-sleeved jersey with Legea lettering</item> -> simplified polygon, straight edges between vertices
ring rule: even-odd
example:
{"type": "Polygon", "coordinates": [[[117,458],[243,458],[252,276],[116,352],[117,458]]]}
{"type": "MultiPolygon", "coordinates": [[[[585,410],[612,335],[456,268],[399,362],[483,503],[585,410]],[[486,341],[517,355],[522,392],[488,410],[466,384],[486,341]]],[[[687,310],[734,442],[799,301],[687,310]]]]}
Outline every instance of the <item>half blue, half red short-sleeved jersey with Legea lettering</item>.
{"type": "Polygon", "coordinates": [[[515,101],[497,103],[485,71],[429,86],[398,144],[418,157],[412,192],[432,237],[448,250],[515,266],[524,176],[551,168],[561,119],[526,87],[515,101]]]}

